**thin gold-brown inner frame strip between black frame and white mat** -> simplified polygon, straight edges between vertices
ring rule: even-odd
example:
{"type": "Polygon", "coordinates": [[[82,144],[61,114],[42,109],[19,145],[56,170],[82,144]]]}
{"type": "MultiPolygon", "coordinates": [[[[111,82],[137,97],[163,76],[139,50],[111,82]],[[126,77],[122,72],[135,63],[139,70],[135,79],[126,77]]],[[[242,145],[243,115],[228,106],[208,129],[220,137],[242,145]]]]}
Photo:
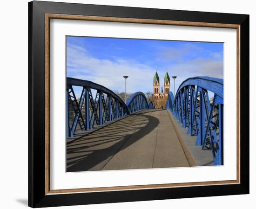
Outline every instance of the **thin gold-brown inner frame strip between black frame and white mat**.
{"type": "Polygon", "coordinates": [[[187,186],[206,186],[220,184],[238,184],[240,183],[240,25],[207,23],[207,22],[187,22],[173,20],[149,20],[149,19],[133,19],[133,18],[115,18],[101,16],[85,16],[85,15],[68,15],[68,14],[45,14],[45,194],[60,193],[77,193],[77,192],[101,192],[113,190],[135,190],[135,189],[160,189],[187,186]],[[237,159],[236,159],[236,180],[228,181],[209,181],[209,182],[191,182],[191,183],[166,183],[166,184],[150,184],[150,185],[134,185],[134,186],[115,186],[115,187],[98,187],[98,188],[81,188],[81,189],[50,189],[50,19],[64,20],[91,20],[91,21],[108,21],[108,22],[124,22],[124,23],[143,23],[158,25],[176,25],[176,26],[201,26],[201,27],[220,27],[236,29],[236,117],[237,117],[237,159]]]}

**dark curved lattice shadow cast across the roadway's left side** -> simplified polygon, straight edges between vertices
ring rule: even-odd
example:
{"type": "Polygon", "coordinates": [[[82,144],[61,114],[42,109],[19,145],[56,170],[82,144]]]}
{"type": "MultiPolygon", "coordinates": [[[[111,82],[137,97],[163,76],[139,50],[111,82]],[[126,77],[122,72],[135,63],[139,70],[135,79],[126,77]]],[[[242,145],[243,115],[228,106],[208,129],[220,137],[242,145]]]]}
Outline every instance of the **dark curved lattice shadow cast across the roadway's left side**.
{"type": "Polygon", "coordinates": [[[106,130],[101,129],[101,133],[103,132],[104,136],[97,136],[98,133],[92,133],[92,135],[88,135],[86,139],[80,139],[73,144],[67,145],[67,172],[87,171],[153,131],[159,124],[159,120],[153,116],[146,115],[147,112],[149,111],[138,112],[136,114],[136,117],[139,117],[138,120],[134,119],[134,117],[128,117],[115,123],[113,128],[108,126],[106,130]],[[148,121],[147,124],[140,127],[140,124],[145,123],[145,121],[148,121]],[[124,134],[126,131],[133,131],[133,133],[124,134]],[[135,131],[136,134],[134,135],[135,131]],[[113,137],[109,138],[110,136],[113,137]],[[95,139],[95,141],[88,142],[88,139],[95,139]],[[97,149],[99,145],[101,146],[115,141],[116,143],[110,147],[97,149]],[[95,150],[91,149],[93,147],[95,147],[95,150]],[[83,154],[70,157],[73,153],[83,154]]]}

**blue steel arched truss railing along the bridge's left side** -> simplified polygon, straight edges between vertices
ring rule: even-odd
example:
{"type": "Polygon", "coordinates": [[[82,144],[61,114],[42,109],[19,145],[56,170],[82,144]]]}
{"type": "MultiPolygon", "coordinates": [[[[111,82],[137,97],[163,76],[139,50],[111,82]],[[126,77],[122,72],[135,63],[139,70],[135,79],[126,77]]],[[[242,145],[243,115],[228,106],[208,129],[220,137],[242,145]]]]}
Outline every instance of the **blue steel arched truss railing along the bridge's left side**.
{"type": "Polygon", "coordinates": [[[93,129],[95,125],[103,125],[135,111],[154,108],[153,104],[147,103],[142,92],[134,93],[125,104],[113,91],[88,80],[67,78],[66,93],[67,137],[74,137],[77,131],[93,129]],[[79,98],[74,87],[82,89],[79,98]]]}

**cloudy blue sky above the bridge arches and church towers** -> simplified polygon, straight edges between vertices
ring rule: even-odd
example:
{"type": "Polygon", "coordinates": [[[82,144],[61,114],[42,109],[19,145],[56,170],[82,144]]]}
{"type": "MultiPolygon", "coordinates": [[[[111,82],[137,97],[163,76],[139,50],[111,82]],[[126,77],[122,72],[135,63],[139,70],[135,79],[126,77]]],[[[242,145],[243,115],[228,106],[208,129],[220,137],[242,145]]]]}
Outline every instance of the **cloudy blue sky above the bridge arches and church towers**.
{"type": "Polygon", "coordinates": [[[127,92],[146,92],[153,91],[156,69],[160,87],[166,70],[177,76],[175,90],[189,77],[223,78],[223,44],[67,36],[67,77],[124,91],[128,75],[127,92]]]}

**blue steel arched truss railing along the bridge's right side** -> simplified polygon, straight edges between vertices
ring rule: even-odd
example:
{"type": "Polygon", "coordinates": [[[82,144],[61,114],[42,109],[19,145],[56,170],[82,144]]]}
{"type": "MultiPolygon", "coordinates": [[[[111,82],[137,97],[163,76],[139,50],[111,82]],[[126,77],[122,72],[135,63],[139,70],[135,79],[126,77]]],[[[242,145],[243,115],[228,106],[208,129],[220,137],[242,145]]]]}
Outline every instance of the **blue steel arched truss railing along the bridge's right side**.
{"type": "Polygon", "coordinates": [[[194,77],[183,81],[175,98],[170,92],[166,108],[196,136],[195,145],[212,150],[214,165],[223,165],[223,79],[194,77]],[[209,99],[209,91],[214,96],[209,99]]]}

